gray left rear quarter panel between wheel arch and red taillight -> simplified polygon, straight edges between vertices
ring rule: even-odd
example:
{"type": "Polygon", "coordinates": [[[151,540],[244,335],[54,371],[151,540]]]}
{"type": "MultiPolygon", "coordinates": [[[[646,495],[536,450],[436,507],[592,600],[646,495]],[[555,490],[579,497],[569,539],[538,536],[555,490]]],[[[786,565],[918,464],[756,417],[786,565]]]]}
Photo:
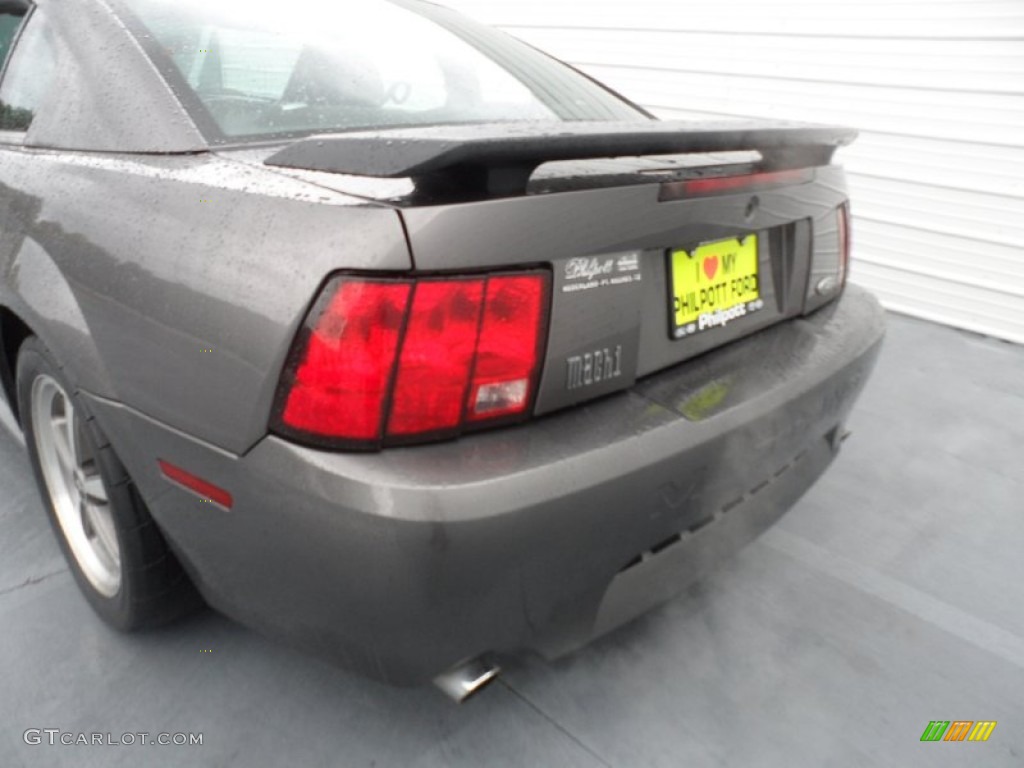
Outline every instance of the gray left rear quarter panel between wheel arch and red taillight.
{"type": "Polygon", "coordinates": [[[0,147],[0,303],[79,386],[233,453],[327,275],[410,266],[393,210],[215,156],[0,147]]]}

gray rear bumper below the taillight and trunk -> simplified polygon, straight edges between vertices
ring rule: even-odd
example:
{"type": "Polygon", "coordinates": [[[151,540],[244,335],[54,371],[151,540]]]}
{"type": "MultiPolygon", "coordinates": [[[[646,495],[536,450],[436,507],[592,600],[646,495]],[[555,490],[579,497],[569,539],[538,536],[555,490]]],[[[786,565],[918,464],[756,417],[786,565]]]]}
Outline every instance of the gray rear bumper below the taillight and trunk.
{"type": "Polygon", "coordinates": [[[851,287],[628,392],[375,455],[269,436],[234,457],[95,407],[215,607],[416,683],[483,652],[570,650],[754,539],[830,463],[883,334],[851,287]],[[233,509],[169,484],[158,458],[230,490],[233,509]]]}

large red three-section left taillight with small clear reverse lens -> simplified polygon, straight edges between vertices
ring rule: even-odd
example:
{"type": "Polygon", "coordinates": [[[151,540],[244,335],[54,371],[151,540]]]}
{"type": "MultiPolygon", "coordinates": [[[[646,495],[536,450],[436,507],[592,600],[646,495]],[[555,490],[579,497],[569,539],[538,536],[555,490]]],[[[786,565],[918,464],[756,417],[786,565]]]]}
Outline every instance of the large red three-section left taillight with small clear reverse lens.
{"type": "Polygon", "coordinates": [[[548,296],[543,271],[337,278],[296,341],[274,426],[313,444],[372,449],[522,417],[548,296]]]}

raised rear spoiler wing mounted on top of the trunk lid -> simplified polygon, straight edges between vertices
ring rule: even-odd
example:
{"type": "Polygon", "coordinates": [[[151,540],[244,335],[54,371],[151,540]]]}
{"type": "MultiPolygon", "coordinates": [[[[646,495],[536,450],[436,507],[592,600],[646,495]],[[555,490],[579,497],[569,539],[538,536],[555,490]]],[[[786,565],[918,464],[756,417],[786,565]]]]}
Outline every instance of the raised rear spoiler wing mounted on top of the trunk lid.
{"type": "Polygon", "coordinates": [[[857,132],[765,121],[487,123],[299,139],[264,163],[377,178],[412,178],[417,194],[469,199],[526,194],[544,163],[598,158],[757,151],[762,170],[827,165],[857,132]]]}

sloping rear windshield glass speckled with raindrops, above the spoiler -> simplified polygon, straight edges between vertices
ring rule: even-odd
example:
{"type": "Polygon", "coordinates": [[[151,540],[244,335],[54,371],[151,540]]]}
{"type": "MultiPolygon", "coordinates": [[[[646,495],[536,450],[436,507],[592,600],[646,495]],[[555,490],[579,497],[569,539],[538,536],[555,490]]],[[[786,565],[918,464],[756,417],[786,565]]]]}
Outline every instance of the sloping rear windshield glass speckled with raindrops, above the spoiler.
{"type": "Polygon", "coordinates": [[[124,0],[212,140],[507,120],[636,120],[531,48],[385,0],[124,0]],[[455,24],[453,27],[452,24],[455,24]]]}

